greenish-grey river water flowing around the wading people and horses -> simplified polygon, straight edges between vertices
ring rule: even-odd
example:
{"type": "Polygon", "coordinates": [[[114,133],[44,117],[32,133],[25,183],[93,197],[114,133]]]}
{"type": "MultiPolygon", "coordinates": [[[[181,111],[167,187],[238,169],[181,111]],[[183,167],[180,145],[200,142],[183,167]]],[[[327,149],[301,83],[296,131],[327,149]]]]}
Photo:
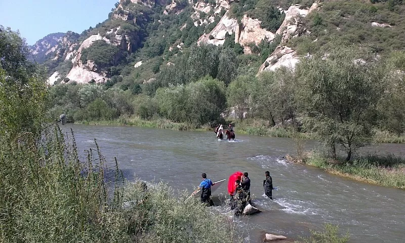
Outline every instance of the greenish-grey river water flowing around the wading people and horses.
{"type": "MultiPolygon", "coordinates": [[[[236,172],[248,172],[253,204],[263,212],[235,219],[250,242],[261,242],[263,233],[292,238],[333,223],[347,230],[350,242],[405,242],[405,190],[387,188],[337,177],[309,166],[286,163],[282,157],[294,154],[288,138],[239,135],[236,141],[218,141],[214,132],[173,131],[136,127],[64,126],[72,128],[78,148],[94,147],[96,138],[108,161],[116,157],[124,176],[133,180],[163,180],[175,189],[192,191],[201,173],[213,181],[228,179],[236,172]],[[273,201],[263,194],[264,172],[270,171],[273,201]]],[[[317,146],[308,141],[305,148],[317,146]]],[[[369,152],[399,154],[405,145],[380,144],[369,152]]],[[[218,207],[212,210],[231,216],[221,198],[226,184],[214,193],[218,207]]]]}

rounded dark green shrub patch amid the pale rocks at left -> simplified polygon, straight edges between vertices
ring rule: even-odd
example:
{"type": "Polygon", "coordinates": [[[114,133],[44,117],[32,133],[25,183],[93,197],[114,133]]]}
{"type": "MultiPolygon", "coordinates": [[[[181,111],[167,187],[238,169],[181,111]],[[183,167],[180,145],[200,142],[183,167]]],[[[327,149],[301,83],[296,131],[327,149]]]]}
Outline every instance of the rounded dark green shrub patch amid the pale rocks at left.
{"type": "Polygon", "coordinates": [[[91,60],[99,67],[106,67],[115,63],[114,59],[118,52],[118,47],[99,40],[82,51],[80,60],[82,60],[83,63],[87,63],[88,60],[91,60]]]}

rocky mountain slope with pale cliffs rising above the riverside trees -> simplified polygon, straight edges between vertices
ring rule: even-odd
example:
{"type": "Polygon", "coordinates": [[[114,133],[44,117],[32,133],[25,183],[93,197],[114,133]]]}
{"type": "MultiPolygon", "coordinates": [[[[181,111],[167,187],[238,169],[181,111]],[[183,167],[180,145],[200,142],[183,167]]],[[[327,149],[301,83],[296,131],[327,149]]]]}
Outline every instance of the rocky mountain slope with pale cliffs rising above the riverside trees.
{"type": "MultiPolygon", "coordinates": [[[[125,77],[125,74],[117,72],[123,68],[134,74],[133,76],[137,76],[134,69],[141,70],[142,68],[134,67],[134,65],[139,61],[145,63],[149,60],[151,65],[157,63],[164,68],[160,59],[167,60],[166,63],[175,63],[174,57],[179,52],[187,50],[192,43],[204,43],[233,48],[237,53],[244,53],[248,56],[259,55],[262,62],[257,64],[258,67],[255,71],[257,73],[274,70],[280,66],[294,67],[301,56],[310,53],[303,53],[302,49],[305,49],[302,47],[303,43],[314,43],[319,37],[323,39],[323,43],[318,42],[321,43],[319,45],[325,45],[332,41],[331,36],[342,35],[342,31],[346,31],[347,37],[352,38],[351,41],[354,43],[361,42],[361,38],[363,38],[364,43],[367,44],[367,34],[359,33],[358,39],[355,39],[357,36],[350,36],[350,34],[353,35],[350,33],[352,30],[342,26],[342,24],[350,24],[350,21],[362,25],[370,24],[370,27],[374,28],[370,31],[376,32],[375,36],[381,35],[378,32],[398,32],[400,29],[405,29],[404,23],[395,19],[398,14],[400,16],[400,13],[404,12],[403,6],[400,4],[394,6],[393,11],[387,12],[386,8],[389,4],[384,1],[381,3],[368,1],[340,3],[341,1],[338,0],[318,2],[121,0],[115,5],[115,9],[111,11],[106,21],[97,24],[95,28],[83,31],[80,35],[76,34],[75,38],[71,38],[69,45],[65,45],[65,50],[59,47],[59,49],[56,48],[58,50],[55,50],[55,46],[43,50],[42,53],[45,53],[43,59],[47,59],[45,63],[49,67],[49,75],[53,76],[53,79],[58,77],[57,80],[53,80],[56,83],[60,83],[62,80],[65,81],[64,83],[89,83],[93,80],[97,83],[106,83],[115,75],[125,77]],[[261,11],[263,6],[269,9],[261,11]],[[326,8],[324,9],[323,6],[326,8]],[[352,11],[357,7],[361,10],[361,14],[358,14],[359,11],[352,11]],[[269,16],[269,12],[272,13],[271,16],[269,16]],[[311,14],[311,12],[316,14],[311,14]],[[339,14],[337,18],[340,22],[332,18],[328,19],[329,12],[339,14]],[[369,17],[364,18],[367,15],[369,17]],[[176,28],[173,27],[174,25],[176,28]],[[262,28],[263,26],[272,30],[262,28]],[[388,28],[397,30],[391,31],[388,28]],[[168,29],[172,31],[169,32],[168,29]],[[280,41],[278,38],[275,39],[276,35],[281,36],[280,41]],[[279,43],[274,43],[273,39],[279,43]],[[294,39],[299,41],[294,41],[294,39]],[[301,42],[301,40],[303,41],[301,42]],[[118,48],[118,51],[111,56],[111,60],[102,60],[103,58],[99,58],[100,60],[84,58],[82,60],[82,50],[91,52],[90,56],[100,57],[97,53],[92,53],[96,52],[94,48],[91,48],[96,41],[103,41],[118,48]],[[271,48],[269,48],[270,46],[271,48]],[[59,51],[60,49],[63,52],[59,51]],[[58,56],[62,58],[58,58],[58,56]],[[69,60],[71,60],[71,64],[67,62],[69,60]],[[130,66],[132,66],[132,70],[129,70],[130,66]],[[56,72],[58,72],[57,75],[56,72]]],[[[379,40],[374,42],[377,43],[374,47],[380,50],[380,45],[383,44],[378,44],[379,40]]],[[[101,46],[107,48],[105,45],[101,46]]],[[[252,69],[252,67],[246,68],[252,69]]],[[[156,74],[151,70],[140,73],[140,76],[131,83],[143,83],[145,80],[156,78],[156,74]]]]}

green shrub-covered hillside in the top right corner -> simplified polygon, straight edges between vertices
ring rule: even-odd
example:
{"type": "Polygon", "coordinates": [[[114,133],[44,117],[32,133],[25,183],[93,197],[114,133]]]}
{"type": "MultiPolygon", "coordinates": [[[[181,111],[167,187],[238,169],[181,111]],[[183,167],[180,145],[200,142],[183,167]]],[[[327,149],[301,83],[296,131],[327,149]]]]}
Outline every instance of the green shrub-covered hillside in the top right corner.
{"type": "Polygon", "coordinates": [[[306,26],[320,46],[333,41],[373,48],[375,52],[403,50],[405,46],[405,5],[372,4],[366,1],[326,1],[320,11],[306,17],[306,26]],[[371,22],[387,23],[393,27],[374,27],[371,22]]]}

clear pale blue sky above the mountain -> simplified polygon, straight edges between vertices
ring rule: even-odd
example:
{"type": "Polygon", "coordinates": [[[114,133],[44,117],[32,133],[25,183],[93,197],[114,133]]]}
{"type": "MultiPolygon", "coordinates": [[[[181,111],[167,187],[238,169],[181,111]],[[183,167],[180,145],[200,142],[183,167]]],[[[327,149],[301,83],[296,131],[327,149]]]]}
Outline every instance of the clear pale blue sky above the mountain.
{"type": "Polygon", "coordinates": [[[0,0],[0,25],[20,30],[28,45],[55,32],[82,33],[108,18],[118,0],[0,0]]]}

